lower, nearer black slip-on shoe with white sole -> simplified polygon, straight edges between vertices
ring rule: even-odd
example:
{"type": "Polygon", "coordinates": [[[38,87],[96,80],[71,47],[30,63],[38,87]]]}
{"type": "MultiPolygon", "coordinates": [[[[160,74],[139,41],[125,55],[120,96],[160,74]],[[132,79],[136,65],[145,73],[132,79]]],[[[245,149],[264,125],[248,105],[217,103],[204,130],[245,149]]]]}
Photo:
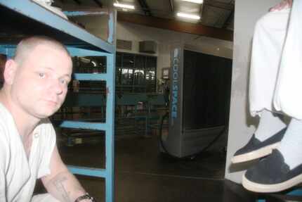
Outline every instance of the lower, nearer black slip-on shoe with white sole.
{"type": "Polygon", "coordinates": [[[302,164],[289,170],[282,153],[274,149],[270,156],[249,168],[242,177],[242,185],[249,191],[271,193],[284,191],[302,182],[302,164]]]}

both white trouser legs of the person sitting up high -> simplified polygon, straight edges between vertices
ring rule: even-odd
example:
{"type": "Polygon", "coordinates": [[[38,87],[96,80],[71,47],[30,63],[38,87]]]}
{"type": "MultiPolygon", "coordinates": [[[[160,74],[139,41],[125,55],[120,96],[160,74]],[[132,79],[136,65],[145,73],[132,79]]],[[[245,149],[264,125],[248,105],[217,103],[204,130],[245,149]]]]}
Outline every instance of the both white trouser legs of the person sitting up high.
{"type": "Polygon", "coordinates": [[[256,23],[249,83],[251,115],[281,111],[302,119],[302,0],[256,23]]]}

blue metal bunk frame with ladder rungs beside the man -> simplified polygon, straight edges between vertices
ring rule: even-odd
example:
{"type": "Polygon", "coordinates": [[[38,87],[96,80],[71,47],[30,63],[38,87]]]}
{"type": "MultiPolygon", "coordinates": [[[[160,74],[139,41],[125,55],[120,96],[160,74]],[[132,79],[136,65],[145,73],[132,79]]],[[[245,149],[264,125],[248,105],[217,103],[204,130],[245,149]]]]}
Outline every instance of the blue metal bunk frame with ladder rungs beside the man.
{"type": "MultiPolygon", "coordinates": [[[[106,121],[79,122],[63,121],[60,127],[105,131],[105,168],[86,168],[70,165],[74,174],[105,178],[105,201],[114,201],[114,89],[115,89],[115,46],[105,42],[65,18],[48,11],[29,0],[0,0],[0,16],[11,19],[1,25],[0,53],[13,56],[15,45],[21,35],[43,34],[62,42],[72,56],[105,56],[107,72],[103,74],[74,74],[76,80],[105,81],[107,88],[106,121]],[[6,26],[9,27],[6,32],[6,26]],[[13,34],[12,34],[12,33],[13,34]],[[6,37],[7,35],[7,37],[6,37]]],[[[116,17],[110,14],[109,42],[113,42],[116,17]]],[[[7,20],[4,20],[7,21],[7,20]]]]}

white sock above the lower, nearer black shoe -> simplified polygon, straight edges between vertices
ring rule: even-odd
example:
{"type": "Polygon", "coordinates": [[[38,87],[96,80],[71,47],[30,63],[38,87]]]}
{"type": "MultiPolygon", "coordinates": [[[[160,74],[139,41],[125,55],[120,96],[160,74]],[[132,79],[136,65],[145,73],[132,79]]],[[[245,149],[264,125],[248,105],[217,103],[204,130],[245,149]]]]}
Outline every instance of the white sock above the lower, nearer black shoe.
{"type": "Polygon", "coordinates": [[[302,163],[302,120],[291,118],[287,132],[277,147],[290,169],[302,163]]]}

